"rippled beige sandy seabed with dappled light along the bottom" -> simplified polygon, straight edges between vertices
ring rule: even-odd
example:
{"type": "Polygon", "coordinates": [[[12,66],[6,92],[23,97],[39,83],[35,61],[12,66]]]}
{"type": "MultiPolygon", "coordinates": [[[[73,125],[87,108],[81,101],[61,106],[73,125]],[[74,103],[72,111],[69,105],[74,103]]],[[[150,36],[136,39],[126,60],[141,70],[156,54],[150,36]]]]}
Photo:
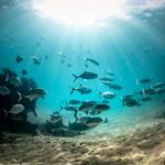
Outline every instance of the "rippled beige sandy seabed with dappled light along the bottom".
{"type": "Polygon", "coordinates": [[[0,165],[165,165],[164,119],[116,131],[122,133],[97,129],[75,138],[7,133],[0,165]]]}

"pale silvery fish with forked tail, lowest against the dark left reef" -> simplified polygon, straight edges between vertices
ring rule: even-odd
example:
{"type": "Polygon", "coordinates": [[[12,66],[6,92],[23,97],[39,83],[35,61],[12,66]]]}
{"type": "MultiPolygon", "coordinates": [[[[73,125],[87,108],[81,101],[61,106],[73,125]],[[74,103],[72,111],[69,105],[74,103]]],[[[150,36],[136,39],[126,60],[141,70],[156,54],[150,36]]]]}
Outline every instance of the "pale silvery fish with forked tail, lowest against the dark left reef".
{"type": "Polygon", "coordinates": [[[20,103],[12,106],[12,108],[9,111],[7,111],[6,109],[3,109],[3,111],[6,113],[4,114],[4,119],[7,119],[7,117],[8,117],[9,113],[11,113],[11,114],[19,114],[23,110],[24,110],[24,106],[20,105],[20,103]]]}

